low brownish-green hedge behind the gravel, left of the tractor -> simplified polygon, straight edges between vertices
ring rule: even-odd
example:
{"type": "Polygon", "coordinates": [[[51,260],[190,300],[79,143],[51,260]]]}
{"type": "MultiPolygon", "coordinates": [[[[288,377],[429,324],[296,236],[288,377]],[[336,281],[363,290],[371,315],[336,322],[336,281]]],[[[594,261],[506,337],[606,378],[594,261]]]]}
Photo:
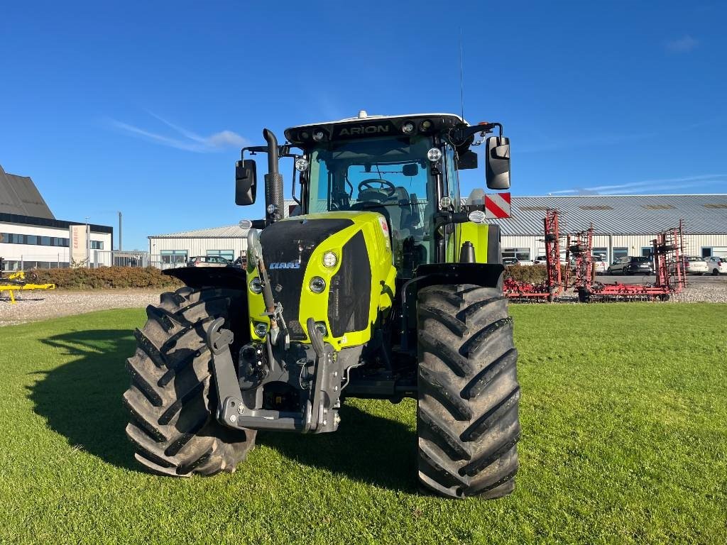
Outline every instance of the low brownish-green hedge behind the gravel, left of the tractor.
{"type": "Polygon", "coordinates": [[[176,278],[156,267],[100,267],[98,269],[36,269],[25,273],[33,283],[52,283],[61,289],[179,288],[176,278]]]}

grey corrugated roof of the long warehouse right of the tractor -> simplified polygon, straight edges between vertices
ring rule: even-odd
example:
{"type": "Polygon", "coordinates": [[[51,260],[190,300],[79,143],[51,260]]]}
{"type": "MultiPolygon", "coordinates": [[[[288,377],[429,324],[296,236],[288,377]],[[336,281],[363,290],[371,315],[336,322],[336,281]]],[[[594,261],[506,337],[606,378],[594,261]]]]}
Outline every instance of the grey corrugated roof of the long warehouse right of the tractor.
{"type": "Polygon", "coordinates": [[[503,235],[539,235],[545,209],[561,211],[561,233],[638,235],[679,227],[695,234],[727,234],[727,194],[718,195],[558,195],[512,198],[512,217],[488,220],[503,235]]]}

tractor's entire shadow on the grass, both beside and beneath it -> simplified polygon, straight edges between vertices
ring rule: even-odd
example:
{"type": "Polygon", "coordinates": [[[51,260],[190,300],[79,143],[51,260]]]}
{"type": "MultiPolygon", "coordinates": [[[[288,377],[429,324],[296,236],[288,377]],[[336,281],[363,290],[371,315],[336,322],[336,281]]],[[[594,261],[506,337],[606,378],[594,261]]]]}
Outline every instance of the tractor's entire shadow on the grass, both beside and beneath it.
{"type": "MultiPolygon", "coordinates": [[[[124,358],[136,349],[132,331],[72,331],[43,342],[73,360],[52,371],[39,372],[42,378],[28,396],[33,411],[66,437],[69,445],[116,467],[142,471],[124,433],[129,417],[121,403],[129,387],[124,358]]],[[[301,464],[353,480],[391,490],[417,491],[417,439],[409,427],[348,405],[342,407],[340,415],[337,432],[259,432],[257,443],[301,464]]]]}

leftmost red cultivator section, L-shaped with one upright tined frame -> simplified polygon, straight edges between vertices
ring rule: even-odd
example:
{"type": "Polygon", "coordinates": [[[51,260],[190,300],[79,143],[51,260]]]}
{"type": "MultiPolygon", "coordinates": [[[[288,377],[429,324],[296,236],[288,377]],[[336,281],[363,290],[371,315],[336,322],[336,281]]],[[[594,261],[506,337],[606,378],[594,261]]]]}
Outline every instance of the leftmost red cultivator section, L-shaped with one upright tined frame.
{"type": "Polygon", "coordinates": [[[545,281],[531,283],[506,278],[503,289],[510,299],[553,302],[563,291],[558,210],[545,211],[543,230],[545,231],[545,281]]]}

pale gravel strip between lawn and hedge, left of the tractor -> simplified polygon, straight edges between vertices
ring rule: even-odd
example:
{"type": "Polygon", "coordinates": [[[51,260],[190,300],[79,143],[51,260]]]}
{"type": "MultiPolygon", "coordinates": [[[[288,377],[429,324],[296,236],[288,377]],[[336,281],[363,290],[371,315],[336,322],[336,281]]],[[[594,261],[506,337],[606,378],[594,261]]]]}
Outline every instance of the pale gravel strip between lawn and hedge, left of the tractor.
{"type": "Polygon", "coordinates": [[[47,320],[111,308],[146,307],[159,303],[160,291],[26,291],[15,296],[17,304],[0,299],[0,326],[47,320]]]}

